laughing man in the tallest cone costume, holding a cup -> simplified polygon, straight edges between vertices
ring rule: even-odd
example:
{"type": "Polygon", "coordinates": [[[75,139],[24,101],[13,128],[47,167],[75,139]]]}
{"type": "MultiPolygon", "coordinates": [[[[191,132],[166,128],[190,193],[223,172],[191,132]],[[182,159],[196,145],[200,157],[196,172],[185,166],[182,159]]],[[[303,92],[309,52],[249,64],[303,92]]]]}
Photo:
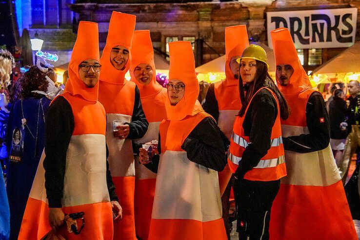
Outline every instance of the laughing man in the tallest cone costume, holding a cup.
{"type": "Polygon", "coordinates": [[[139,88],[125,80],[130,68],[131,41],[136,16],[113,12],[106,45],[100,58],[99,101],[107,117],[106,143],[116,193],[123,210],[114,223],[114,239],[136,239],[134,219],[135,162],[132,139],[146,133],[148,122],[141,106],[139,88]],[[115,123],[120,126],[114,129],[115,123]]]}

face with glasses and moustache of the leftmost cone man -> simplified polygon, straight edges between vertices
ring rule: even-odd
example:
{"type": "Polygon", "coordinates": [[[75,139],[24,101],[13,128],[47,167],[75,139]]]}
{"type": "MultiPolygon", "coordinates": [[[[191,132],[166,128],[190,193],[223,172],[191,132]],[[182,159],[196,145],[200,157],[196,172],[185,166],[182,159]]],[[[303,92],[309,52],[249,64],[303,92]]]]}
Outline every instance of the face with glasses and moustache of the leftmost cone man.
{"type": "Polygon", "coordinates": [[[87,59],[79,64],[79,77],[86,87],[94,87],[99,81],[100,63],[95,59],[87,59]],[[85,71],[84,71],[85,70],[85,71]],[[87,71],[86,71],[87,70],[87,71]]]}

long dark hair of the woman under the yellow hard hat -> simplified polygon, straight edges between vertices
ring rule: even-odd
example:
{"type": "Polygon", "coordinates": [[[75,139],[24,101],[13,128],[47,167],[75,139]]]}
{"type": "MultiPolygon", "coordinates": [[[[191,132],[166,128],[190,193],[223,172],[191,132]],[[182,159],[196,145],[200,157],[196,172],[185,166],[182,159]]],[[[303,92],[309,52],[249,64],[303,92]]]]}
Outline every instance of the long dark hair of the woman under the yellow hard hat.
{"type": "Polygon", "coordinates": [[[248,83],[249,88],[247,89],[246,94],[244,90],[243,81],[239,74],[239,92],[240,92],[240,100],[242,104],[240,112],[238,114],[240,117],[242,117],[245,114],[246,107],[249,104],[251,98],[261,87],[267,87],[271,89],[275,94],[280,105],[280,118],[282,120],[286,120],[289,117],[290,115],[289,105],[287,104],[284,96],[280,93],[278,87],[275,85],[274,80],[272,80],[267,70],[268,69],[266,63],[256,60],[255,78],[254,81],[250,82],[250,84],[248,83]]]}

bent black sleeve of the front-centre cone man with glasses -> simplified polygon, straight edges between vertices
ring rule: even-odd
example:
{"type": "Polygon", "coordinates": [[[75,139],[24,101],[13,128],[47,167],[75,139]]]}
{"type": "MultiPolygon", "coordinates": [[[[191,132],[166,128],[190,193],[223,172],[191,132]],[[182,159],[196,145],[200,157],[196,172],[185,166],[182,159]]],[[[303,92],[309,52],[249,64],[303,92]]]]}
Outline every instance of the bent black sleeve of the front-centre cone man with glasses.
{"type": "Polygon", "coordinates": [[[220,134],[216,122],[210,117],[205,118],[187,136],[181,149],[186,151],[190,161],[220,172],[227,163],[220,134]]]}

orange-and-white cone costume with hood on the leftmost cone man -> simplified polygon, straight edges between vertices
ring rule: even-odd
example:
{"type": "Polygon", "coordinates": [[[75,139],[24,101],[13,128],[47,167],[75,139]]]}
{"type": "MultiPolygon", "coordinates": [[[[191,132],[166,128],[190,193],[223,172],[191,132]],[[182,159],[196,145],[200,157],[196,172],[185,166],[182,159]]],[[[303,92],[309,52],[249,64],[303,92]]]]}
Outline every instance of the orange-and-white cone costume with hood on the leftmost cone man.
{"type": "MultiPolygon", "coordinates": [[[[111,240],[113,219],[106,180],[106,116],[103,106],[98,101],[99,83],[93,88],[88,88],[79,77],[79,64],[87,59],[100,60],[98,24],[80,21],[78,38],[69,63],[69,80],[64,93],[51,105],[59,105],[59,100],[65,102],[69,109],[72,109],[69,111],[70,115],[73,114],[74,124],[64,154],[66,163],[64,162],[60,205],[65,214],[84,212],[86,225],[79,235],[69,233],[66,227],[59,231],[65,239],[111,240]]],[[[51,105],[48,112],[50,115],[51,105]]],[[[55,122],[49,124],[53,123],[55,124],[55,122]]],[[[55,136],[52,137],[54,142],[58,141],[55,136]]],[[[54,168],[51,165],[60,163],[53,158],[58,153],[50,152],[47,144],[51,143],[45,144],[46,157],[44,160],[43,155],[40,160],[22,220],[19,239],[41,239],[51,230],[48,222],[48,199],[50,199],[48,193],[51,188],[56,188],[51,182],[59,176],[53,175],[54,169],[49,171],[50,167],[54,168]]],[[[61,171],[61,169],[55,170],[61,171]]]]}

